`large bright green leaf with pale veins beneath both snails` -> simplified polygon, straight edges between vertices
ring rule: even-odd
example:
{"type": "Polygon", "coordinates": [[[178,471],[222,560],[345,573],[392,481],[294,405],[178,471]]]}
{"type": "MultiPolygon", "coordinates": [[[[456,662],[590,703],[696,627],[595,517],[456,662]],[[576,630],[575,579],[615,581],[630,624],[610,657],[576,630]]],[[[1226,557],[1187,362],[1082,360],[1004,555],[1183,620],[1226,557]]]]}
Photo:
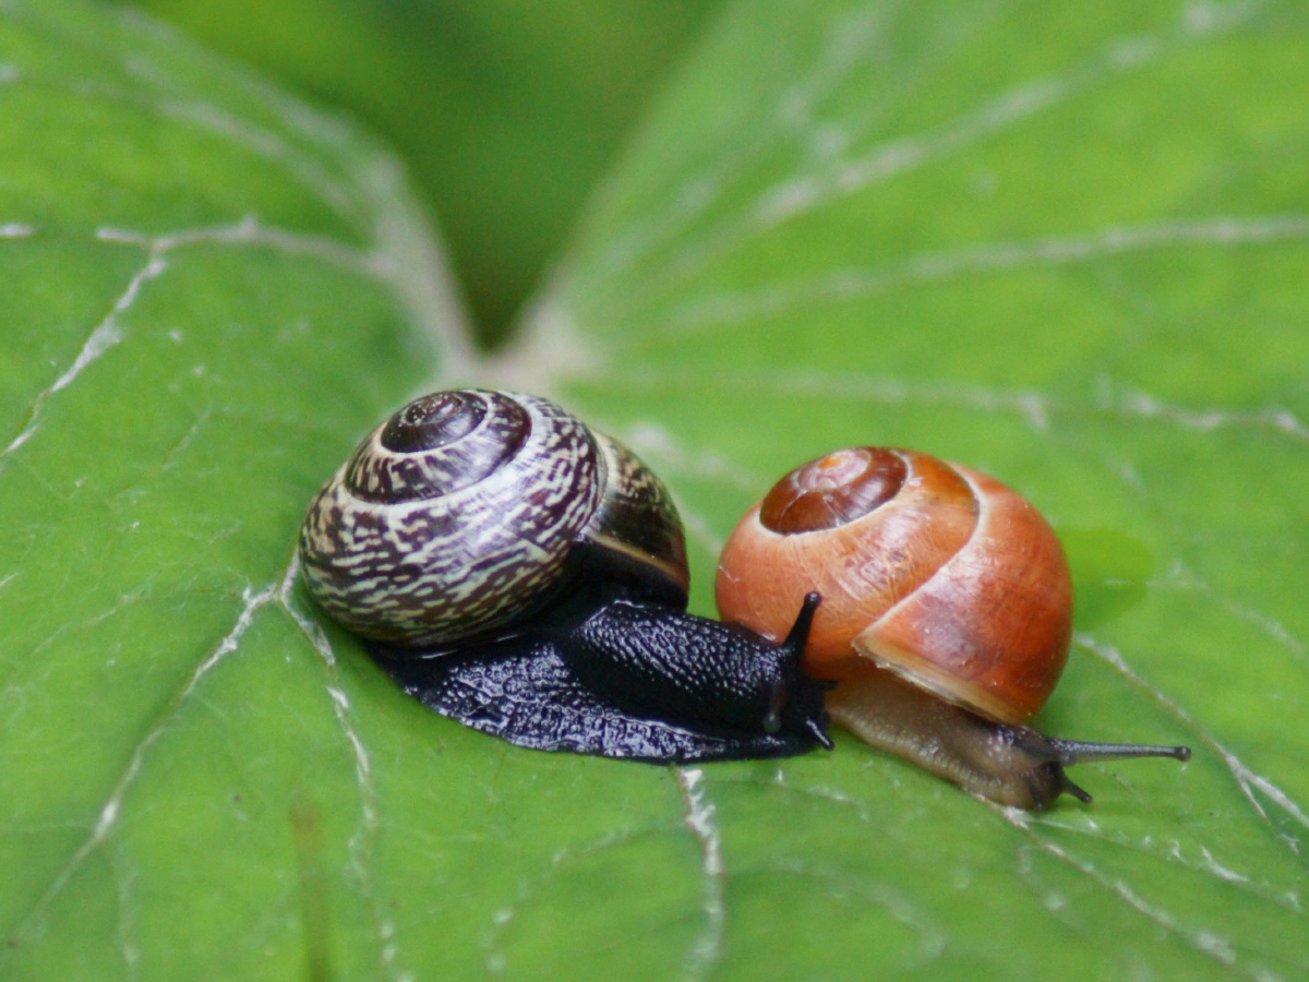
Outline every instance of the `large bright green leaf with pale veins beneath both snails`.
{"type": "Polygon", "coordinates": [[[1306,27],[738,3],[474,363],[367,137],[147,24],[0,8],[0,974],[1304,977],[1306,27]],[[631,443],[706,614],[806,458],[995,474],[1085,602],[1043,728],[1194,759],[1038,816],[848,737],[660,769],[433,716],[292,555],[373,422],[470,378],[631,443]]]}

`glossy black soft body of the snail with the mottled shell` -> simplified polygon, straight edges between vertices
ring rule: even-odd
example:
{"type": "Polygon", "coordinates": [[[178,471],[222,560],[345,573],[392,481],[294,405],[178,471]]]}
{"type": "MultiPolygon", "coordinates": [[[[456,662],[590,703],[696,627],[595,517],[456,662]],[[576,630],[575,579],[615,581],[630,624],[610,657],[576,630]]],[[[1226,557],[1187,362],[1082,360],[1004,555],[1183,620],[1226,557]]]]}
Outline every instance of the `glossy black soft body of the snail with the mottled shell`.
{"type": "Polygon", "coordinates": [[[787,757],[830,745],[822,686],[798,669],[814,606],[817,594],[781,646],[613,601],[572,631],[533,630],[427,659],[370,651],[429,708],[518,746],[661,763],[787,757]]]}

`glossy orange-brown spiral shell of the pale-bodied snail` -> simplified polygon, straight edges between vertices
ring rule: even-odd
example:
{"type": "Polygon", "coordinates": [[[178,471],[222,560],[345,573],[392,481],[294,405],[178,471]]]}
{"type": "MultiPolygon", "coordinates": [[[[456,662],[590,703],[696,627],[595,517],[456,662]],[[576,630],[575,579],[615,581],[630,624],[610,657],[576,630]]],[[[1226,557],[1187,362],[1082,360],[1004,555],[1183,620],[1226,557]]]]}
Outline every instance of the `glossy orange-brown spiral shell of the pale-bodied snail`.
{"type": "Polygon", "coordinates": [[[723,618],[781,638],[809,591],[823,601],[805,663],[843,681],[827,697],[838,721],[881,674],[872,663],[1024,723],[1068,657],[1072,577],[1054,529],[994,478],[925,453],[836,450],[746,515],[719,563],[723,618]]]}

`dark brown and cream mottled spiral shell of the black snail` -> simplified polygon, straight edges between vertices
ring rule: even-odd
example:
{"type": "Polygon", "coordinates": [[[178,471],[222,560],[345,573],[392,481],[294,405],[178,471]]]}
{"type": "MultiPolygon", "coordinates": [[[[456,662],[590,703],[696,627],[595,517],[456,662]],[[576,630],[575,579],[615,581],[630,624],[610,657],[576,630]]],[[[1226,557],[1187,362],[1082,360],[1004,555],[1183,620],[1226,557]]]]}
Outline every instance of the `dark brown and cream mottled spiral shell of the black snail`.
{"type": "Polygon", "coordinates": [[[305,580],[347,628],[440,647],[504,631],[560,587],[579,541],[649,563],[685,592],[681,524],[628,450],[547,399],[440,391],[377,427],[301,526],[305,580]]]}

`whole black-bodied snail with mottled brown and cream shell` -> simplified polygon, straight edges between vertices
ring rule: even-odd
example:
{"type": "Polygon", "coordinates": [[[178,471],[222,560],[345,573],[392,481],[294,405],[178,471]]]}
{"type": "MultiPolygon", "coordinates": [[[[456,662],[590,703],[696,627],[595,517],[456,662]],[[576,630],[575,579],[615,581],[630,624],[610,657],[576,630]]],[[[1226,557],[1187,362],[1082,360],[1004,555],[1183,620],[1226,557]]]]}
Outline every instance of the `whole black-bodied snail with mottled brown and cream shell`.
{"type": "Polygon", "coordinates": [[[818,594],[778,643],[687,614],[668,490],[546,399],[408,403],[314,498],[300,556],[407,693],[520,746],[682,762],[831,745],[800,664],[818,594]]]}

